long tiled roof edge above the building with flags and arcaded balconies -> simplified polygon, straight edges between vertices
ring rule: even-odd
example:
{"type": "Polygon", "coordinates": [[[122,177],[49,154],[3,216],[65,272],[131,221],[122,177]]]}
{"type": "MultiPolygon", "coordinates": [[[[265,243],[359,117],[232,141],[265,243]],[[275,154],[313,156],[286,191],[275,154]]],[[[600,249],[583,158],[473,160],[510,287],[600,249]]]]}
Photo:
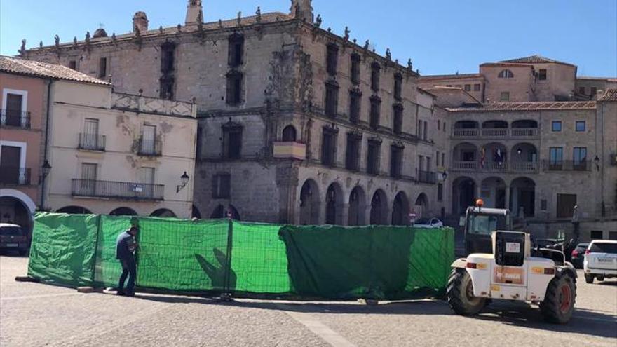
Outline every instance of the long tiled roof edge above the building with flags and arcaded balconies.
{"type": "Polygon", "coordinates": [[[538,111],[544,109],[595,109],[595,101],[564,102],[493,102],[481,107],[453,107],[451,112],[479,111],[538,111]]]}

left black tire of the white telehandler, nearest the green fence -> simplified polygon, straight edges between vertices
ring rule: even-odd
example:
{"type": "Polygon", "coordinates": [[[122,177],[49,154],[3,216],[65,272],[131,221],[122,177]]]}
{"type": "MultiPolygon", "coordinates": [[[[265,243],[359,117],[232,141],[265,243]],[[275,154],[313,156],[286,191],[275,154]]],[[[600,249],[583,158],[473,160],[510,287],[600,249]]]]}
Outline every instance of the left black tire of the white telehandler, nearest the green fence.
{"type": "Polygon", "coordinates": [[[473,296],[473,283],[464,268],[454,268],[448,279],[447,299],[450,308],[459,315],[475,315],[486,306],[487,300],[473,296]]]}

